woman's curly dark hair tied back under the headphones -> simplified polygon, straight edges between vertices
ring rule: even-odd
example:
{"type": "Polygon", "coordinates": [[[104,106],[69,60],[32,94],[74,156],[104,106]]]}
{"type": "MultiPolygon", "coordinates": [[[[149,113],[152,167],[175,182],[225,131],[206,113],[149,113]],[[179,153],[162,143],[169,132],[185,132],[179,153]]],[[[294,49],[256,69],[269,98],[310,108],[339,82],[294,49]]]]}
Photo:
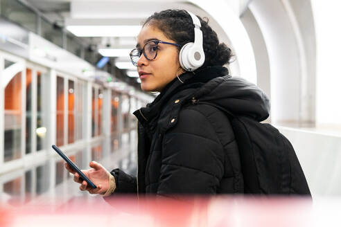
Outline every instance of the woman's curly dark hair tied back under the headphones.
{"type": "MultiPolygon", "coordinates": [[[[205,62],[199,68],[207,66],[222,66],[229,63],[232,51],[224,43],[219,44],[217,33],[209,26],[209,20],[204,21],[197,16],[201,23],[205,62]]],[[[188,42],[194,42],[194,25],[191,16],[186,10],[163,10],[155,12],[144,21],[143,26],[156,26],[168,39],[184,46],[188,42]]]]}

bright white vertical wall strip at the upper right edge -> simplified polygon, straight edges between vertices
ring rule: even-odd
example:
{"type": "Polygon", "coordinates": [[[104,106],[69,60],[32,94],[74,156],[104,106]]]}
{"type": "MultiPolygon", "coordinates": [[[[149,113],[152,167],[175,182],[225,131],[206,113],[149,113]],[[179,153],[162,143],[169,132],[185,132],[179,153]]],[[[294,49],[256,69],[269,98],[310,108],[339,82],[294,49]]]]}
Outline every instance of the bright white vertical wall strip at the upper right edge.
{"type": "Polygon", "coordinates": [[[341,127],[341,1],[311,3],[317,42],[316,122],[341,127]]]}

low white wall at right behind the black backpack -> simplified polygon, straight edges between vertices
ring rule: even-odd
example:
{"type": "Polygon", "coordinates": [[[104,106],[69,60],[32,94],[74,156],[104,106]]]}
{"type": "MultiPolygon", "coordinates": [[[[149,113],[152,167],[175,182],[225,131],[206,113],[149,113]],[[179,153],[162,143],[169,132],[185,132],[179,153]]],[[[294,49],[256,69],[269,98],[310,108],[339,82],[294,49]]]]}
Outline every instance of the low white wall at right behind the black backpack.
{"type": "Polygon", "coordinates": [[[313,196],[341,196],[341,134],[278,127],[292,143],[313,196]]]}

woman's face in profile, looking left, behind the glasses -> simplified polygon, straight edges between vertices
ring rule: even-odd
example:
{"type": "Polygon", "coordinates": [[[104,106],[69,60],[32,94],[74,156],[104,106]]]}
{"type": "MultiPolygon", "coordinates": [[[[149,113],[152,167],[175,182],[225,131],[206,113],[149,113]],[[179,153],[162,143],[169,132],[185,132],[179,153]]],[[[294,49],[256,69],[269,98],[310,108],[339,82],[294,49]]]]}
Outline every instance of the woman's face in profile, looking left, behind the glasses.
{"type": "MultiPolygon", "coordinates": [[[[146,42],[155,39],[175,43],[173,40],[168,39],[161,30],[147,24],[142,27],[137,36],[137,47],[141,49],[146,42]]],[[[147,60],[141,54],[137,62],[141,89],[143,91],[161,91],[177,76],[179,69],[179,51],[177,47],[168,44],[158,44],[157,57],[154,60],[147,60]]]]}

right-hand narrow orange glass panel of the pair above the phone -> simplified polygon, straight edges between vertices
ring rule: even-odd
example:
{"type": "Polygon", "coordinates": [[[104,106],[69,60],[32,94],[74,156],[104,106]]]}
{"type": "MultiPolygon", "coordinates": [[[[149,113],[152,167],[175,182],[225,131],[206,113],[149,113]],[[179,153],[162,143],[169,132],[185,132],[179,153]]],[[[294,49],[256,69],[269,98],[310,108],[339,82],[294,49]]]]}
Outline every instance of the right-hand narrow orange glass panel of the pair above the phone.
{"type": "Polygon", "coordinates": [[[68,143],[75,141],[75,92],[74,82],[69,80],[69,92],[68,92],[68,143]]]}

